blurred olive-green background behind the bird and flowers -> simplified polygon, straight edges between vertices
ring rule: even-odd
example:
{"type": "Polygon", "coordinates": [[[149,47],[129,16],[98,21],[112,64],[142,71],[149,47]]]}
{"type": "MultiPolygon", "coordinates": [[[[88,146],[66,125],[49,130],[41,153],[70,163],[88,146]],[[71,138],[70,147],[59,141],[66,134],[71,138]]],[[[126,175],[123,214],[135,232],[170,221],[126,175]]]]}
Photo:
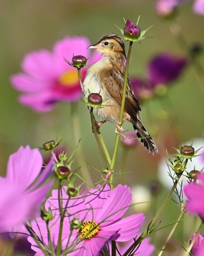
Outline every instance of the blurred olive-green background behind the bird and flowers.
{"type": "MultiPolygon", "coordinates": [[[[124,20],[137,21],[146,29],[150,25],[148,36],[153,38],[135,43],[132,50],[130,76],[144,76],[146,64],[155,54],[169,51],[176,55],[185,54],[177,39],[171,34],[168,22],[157,17],[153,0],[126,1],[72,1],[72,0],[1,0],[0,3],[0,167],[1,174],[6,172],[9,155],[21,145],[41,146],[45,141],[62,136],[62,145],[69,153],[75,149],[71,126],[71,106],[58,103],[48,113],[35,113],[20,105],[17,101],[19,92],[12,88],[9,77],[21,71],[23,57],[33,50],[52,50],[57,40],[65,36],[87,36],[91,43],[107,33],[118,33],[124,27],[124,20]]],[[[189,46],[194,42],[203,43],[204,17],[195,15],[192,2],[180,8],[177,22],[189,46]]],[[[203,60],[199,60],[203,64],[203,60]]],[[[203,81],[201,83],[203,86],[203,81]]],[[[174,82],[163,98],[156,98],[142,104],[142,119],[159,146],[160,154],[152,157],[142,146],[129,151],[126,170],[128,185],[149,184],[157,177],[157,164],[172,147],[179,147],[182,141],[202,137],[203,92],[198,85],[195,68],[191,65],[184,74],[174,82]]],[[[81,144],[85,149],[87,163],[94,168],[105,168],[94,139],[89,112],[85,104],[79,101],[81,144]]],[[[131,130],[128,123],[125,129],[131,130]]],[[[110,154],[114,145],[114,124],[101,127],[104,140],[110,154]]],[[[123,149],[120,147],[117,161],[117,172],[124,164],[123,149]]],[[[78,168],[75,163],[75,168],[78,168]]],[[[95,181],[99,181],[98,172],[91,169],[95,181]]],[[[119,177],[119,175],[118,175],[119,177]]],[[[123,179],[125,181],[125,179],[123,179]]],[[[121,182],[118,180],[118,182],[121,182]]],[[[175,255],[175,254],[174,254],[175,255]]]]}

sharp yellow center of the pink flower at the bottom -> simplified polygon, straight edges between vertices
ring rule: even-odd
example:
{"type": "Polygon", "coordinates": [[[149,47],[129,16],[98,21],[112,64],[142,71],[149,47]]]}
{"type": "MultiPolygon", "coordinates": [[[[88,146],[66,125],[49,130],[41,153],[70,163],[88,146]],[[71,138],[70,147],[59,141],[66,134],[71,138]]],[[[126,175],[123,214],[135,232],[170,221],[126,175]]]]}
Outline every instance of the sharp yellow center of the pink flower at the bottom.
{"type": "Polygon", "coordinates": [[[99,224],[96,222],[84,222],[80,227],[78,233],[80,238],[91,238],[95,236],[100,230],[99,224]]]}

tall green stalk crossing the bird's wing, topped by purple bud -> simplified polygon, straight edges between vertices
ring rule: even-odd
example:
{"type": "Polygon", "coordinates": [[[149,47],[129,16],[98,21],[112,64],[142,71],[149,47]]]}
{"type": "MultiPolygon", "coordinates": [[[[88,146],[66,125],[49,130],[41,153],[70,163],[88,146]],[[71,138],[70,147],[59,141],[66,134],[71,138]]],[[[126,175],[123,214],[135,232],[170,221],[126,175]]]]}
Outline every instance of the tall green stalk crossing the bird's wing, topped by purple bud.
{"type": "MultiPolygon", "coordinates": [[[[130,60],[130,57],[131,57],[132,44],[133,44],[133,42],[130,41],[129,42],[129,49],[128,49],[128,56],[127,56],[127,59],[126,59],[124,88],[123,88],[123,93],[122,93],[121,112],[120,112],[120,115],[119,115],[119,122],[120,123],[122,123],[124,109],[125,109],[126,88],[127,88],[127,84],[128,84],[128,69],[129,69],[129,60],[130,60]]],[[[112,154],[112,161],[111,161],[111,167],[113,169],[114,169],[114,166],[115,166],[115,161],[116,161],[116,157],[117,157],[117,153],[118,153],[119,137],[120,137],[120,132],[118,131],[118,134],[116,134],[116,137],[115,137],[115,146],[114,146],[114,151],[113,151],[113,154],[112,154]]]]}

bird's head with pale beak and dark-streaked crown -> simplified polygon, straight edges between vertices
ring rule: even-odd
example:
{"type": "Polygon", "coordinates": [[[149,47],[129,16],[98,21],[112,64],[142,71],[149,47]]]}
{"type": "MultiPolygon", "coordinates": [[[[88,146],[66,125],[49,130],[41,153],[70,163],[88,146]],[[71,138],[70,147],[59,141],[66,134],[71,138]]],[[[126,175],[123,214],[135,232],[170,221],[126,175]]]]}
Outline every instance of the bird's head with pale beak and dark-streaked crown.
{"type": "Polygon", "coordinates": [[[96,49],[105,56],[122,54],[126,57],[124,41],[120,36],[117,36],[117,34],[107,34],[101,37],[96,44],[89,46],[88,49],[96,49]]]}

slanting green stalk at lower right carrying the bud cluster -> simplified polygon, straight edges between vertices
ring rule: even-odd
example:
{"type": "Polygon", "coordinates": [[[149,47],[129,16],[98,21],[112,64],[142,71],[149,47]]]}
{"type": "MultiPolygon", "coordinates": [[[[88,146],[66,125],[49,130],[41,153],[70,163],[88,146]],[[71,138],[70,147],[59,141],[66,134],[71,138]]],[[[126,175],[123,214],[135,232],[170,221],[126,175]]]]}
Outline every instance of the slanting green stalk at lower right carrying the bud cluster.
{"type": "MultiPolygon", "coordinates": [[[[187,161],[186,161],[187,163],[187,161]]],[[[129,252],[131,252],[131,250],[133,250],[133,248],[135,248],[136,245],[140,244],[142,242],[143,239],[145,239],[147,236],[149,236],[149,234],[152,231],[152,227],[154,226],[154,224],[156,223],[156,220],[159,218],[159,216],[161,215],[161,213],[163,213],[165,207],[167,206],[167,203],[169,202],[169,200],[171,199],[171,196],[174,192],[174,189],[177,187],[178,181],[181,178],[182,173],[177,177],[177,179],[174,181],[174,185],[171,188],[170,192],[168,193],[166,199],[164,200],[163,204],[161,205],[159,211],[156,213],[156,215],[154,216],[152,222],[150,222],[150,224],[147,226],[147,228],[143,231],[143,233],[140,235],[140,237],[138,237],[137,240],[135,240],[135,242],[131,245],[131,247],[129,247],[129,249],[125,252],[125,254],[123,256],[127,256],[129,252]]]]}

